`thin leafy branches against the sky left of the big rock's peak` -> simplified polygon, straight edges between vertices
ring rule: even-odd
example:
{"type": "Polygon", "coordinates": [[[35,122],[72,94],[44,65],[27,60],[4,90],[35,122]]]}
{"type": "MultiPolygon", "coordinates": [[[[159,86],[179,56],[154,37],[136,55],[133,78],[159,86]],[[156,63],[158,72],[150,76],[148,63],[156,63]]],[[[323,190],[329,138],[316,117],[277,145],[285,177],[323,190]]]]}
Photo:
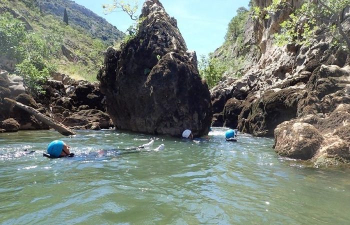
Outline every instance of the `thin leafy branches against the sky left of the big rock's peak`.
{"type": "Polygon", "coordinates": [[[138,19],[138,16],[135,15],[138,8],[137,0],[133,0],[133,3],[131,4],[126,3],[123,0],[113,0],[113,3],[111,4],[102,4],[102,8],[104,9],[105,14],[114,11],[123,11],[126,12],[126,14],[128,14],[132,20],[138,19]]]}

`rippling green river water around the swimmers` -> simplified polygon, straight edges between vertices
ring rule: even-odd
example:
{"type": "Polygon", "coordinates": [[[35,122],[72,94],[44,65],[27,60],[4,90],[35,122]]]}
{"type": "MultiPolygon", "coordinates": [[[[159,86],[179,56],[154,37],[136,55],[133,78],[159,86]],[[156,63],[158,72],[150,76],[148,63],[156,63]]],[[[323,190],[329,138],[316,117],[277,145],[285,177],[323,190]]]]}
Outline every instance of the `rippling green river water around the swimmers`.
{"type": "Polygon", "coordinates": [[[215,128],[209,141],[0,133],[0,224],[350,224],[349,167],[310,168],[276,156],[273,139],[226,142],[224,131],[215,128]],[[58,138],[76,157],[42,157],[58,138]],[[144,151],[99,151],[151,139],[144,151]]]}

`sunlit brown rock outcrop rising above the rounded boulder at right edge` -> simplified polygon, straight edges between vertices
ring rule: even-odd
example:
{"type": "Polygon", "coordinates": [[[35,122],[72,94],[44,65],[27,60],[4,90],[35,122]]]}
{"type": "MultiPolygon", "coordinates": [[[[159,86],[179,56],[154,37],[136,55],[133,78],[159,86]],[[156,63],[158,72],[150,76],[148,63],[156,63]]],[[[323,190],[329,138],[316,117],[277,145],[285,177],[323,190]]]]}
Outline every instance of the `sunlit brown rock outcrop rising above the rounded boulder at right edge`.
{"type": "Polygon", "coordinates": [[[312,76],[307,96],[298,103],[298,118],[274,130],[275,151],[292,158],[312,159],[315,166],[342,162],[334,162],[338,158],[349,160],[350,66],[322,65],[312,76]],[[295,126],[301,127],[298,132],[295,126]]]}

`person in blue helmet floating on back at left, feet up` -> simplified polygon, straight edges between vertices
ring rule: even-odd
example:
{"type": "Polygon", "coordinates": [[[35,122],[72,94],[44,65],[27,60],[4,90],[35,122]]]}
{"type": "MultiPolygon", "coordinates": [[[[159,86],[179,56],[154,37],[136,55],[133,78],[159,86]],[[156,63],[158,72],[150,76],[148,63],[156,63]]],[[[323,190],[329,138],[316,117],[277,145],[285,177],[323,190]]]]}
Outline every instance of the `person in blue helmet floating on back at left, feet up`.
{"type": "MultiPolygon", "coordinates": [[[[104,150],[99,150],[99,154],[103,154],[104,151],[127,151],[127,153],[131,152],[139,152],[140,149],[143,148],[149,148],[153,145],[154,140],[149,141],[146,144],[142,144],[138,147],[134,148],[127,148],[127,149],[104,149],[104,150]],[[133,150],[133,151],[132,151],[133,150]]],[[[159,151],[163,150],[165,148],[164,144],[160,144],[158,147],[153,149],[153,151],[159,151]]],[[[47,152],[43,153],[43,156],[48,157],[48,158],[60,158],[60,157],[73,157],[74,153],[71,153],[69,151],[70,146],[64,143],[62,140],[53,140],[51,141],[48,146],[47,146],[47,152]]]]}

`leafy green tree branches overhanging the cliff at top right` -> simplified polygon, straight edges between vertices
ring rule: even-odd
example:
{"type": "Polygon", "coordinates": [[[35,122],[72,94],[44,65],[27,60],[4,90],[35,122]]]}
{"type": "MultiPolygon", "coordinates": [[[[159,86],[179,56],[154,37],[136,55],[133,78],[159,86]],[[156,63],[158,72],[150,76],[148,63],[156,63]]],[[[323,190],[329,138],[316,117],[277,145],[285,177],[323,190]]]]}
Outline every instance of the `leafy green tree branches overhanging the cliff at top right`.
{"type": "Polygon", "coordinates": [[[292,9],[289,18],[280,24],[281,32],[274,34],[279,45],[294,42],[307,46],[322,33],[332,37],[332,44],[350,53],[350,38],[344,28],[344,11],[349,5],[350,0],[304,0],[299,8],[294,8],[287,0],[272,0],[269,6],[262,10],[255,7],[254,11],[269,18],[283,8],[292,9]]]}

